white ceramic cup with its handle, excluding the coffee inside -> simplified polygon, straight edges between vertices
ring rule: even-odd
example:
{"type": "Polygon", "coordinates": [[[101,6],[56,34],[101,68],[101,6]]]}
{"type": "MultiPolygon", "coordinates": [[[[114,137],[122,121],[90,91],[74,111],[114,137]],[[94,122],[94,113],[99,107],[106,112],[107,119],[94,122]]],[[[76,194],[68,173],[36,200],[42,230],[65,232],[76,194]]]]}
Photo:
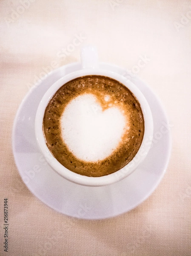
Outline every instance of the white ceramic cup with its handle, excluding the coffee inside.
{"type": "Polygon", "coordinates": [[[44,157],[46,158],[46,161],[59,175],[61,175],[62,177],[71,182],[84,186],[105,186],[108,184],[115,183],[130,175],[131,172],[133,172],[145,159],[150,149],[150,142],[153,137],[153,118],[148,102],[146,101],[143,93],[140,92],[140,90],[136,87],[135,84],[126,79],[124,76],[119,75],[118,73],[114,73],[99,68],[97,51],[94,47],[83,47],[83,49],[81,50],[81,64],[81,70],[72,72],[62,77],[61,79],[56,81],[44,94],[36,113],[35,134],[37,143],[44,157]],[[46,139],[43,132],[43,117],[46,106],[48,105],[48,102],[52,98],[52,96],[57,92],[57,90],[61,86],[63,86],[63,84],[66,84],[68,81],[71,81],[72,79],[75,79],[77,77],[86,75],[107,76],[124,84],[126,87],[128,87],[129,90],[131,90],[131,92],[136,96],[136,98],[140,102],[140,106],[144,116],[145,131],[143,141],[133,160],[131,160],[131,162],[129,162],[125,167],[118,170],[117,172],[102,177],[87,177],[84,175],[74,173],[68,170],[66,167],[64,167],[49,151],[46,145],[46,139]]]}

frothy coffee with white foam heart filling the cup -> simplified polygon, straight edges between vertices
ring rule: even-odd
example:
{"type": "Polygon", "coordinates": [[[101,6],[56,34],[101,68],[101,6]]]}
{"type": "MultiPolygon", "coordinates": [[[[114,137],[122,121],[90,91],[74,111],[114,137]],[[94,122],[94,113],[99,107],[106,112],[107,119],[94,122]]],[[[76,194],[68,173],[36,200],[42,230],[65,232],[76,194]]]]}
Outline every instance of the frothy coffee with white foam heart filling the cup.
{"type": "Polygon", "coordinates": [[[46,145],[67,169],[100,177],[128,164],[143,140],[140,103],[119,81],[88,75],[54,94],[43,118],[46,145]]]}

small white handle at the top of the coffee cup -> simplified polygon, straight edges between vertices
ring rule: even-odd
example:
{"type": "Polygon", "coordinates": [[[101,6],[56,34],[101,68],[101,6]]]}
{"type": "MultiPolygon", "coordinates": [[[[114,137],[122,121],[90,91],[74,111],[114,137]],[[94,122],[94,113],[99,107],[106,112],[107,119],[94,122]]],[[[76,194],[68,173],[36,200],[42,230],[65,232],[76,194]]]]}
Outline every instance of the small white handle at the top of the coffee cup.
{"type": "Polygon", "coordinates": [[[84,46],[80,57],[82,69],[99,68],[97,49],[92,45],[84,46]]]}

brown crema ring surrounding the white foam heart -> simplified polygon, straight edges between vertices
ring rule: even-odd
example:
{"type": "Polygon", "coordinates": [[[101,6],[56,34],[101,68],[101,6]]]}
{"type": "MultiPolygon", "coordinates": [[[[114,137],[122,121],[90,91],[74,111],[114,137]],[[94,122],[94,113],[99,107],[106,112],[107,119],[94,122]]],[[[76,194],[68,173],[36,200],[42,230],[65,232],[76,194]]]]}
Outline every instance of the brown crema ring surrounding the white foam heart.
{"type": "Polygon", "coordinates": [[[89,75],[73,79],[57,90],[46,107],[43,130],[49,150],[63,166],[80,175],[100,177],[120,170],[137,154],[144,135],[144,117],[140,103],[125,85],[106,76],[89,75]],[[95,95],[103,111],[116,106],[128,119],[128,127],[119,146],[104,160],[97,162],[86,162],[75,157],[61,134],[64,109],[72,99],[84,93],[95,95]],[[104,101],[104,96],[109,96],[109,103],[104,101]]]}

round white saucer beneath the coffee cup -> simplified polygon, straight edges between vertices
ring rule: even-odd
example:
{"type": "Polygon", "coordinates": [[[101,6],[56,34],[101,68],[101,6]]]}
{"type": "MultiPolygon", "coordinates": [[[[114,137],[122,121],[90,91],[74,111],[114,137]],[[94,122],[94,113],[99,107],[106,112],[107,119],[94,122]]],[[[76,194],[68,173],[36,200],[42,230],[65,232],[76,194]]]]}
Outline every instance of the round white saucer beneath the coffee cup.
{"type": "MultiPolygon", "coordinates": [[[[124,69],[101,63],[120,74],[124,69]]],[[[20,176],[43,203],[68,216],[83,219],[114,217],[137,207],[156,189],[168,165],[171,136],[168,119],[159,100],[147,85],[132,78],[150,105],[154,119],[154,142],[144,162],[131,175],[115,184],[86,187],[60,177],[44,160],[35,140],[34,119],[40,99],[55,81],[80,69],[80,63],[54,70],[29,91],[14,120],[13,153],[20,176]]]]}

